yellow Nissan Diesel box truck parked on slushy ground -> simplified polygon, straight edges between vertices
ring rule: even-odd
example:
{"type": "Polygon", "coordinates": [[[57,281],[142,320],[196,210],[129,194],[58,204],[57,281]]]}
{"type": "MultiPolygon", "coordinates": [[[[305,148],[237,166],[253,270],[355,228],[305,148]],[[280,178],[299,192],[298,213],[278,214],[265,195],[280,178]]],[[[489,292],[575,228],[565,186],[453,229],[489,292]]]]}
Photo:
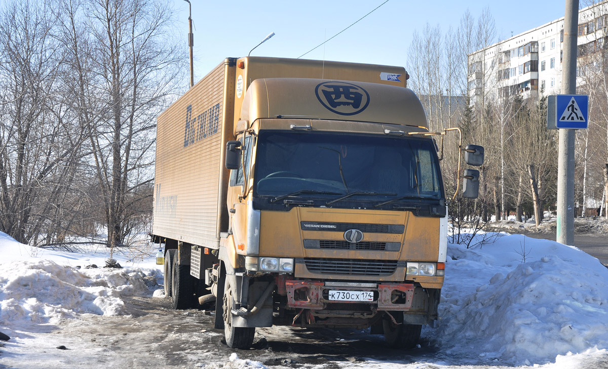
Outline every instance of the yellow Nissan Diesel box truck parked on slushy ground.
{"type": "MultiPolygon", "coordinates": [[[[371,328],[416,345],[438,319],[447,199],[402,67],[227,58],[157,119],[152,240],[176,309],[256,327],[371,328]]],[[[463,152],[483,163],[483,147],[463,152]]],[[[477,197],[478,172],[463,175],[477,197]]],[[[457,190],[458,191],[458,190],[457,190]]]]}

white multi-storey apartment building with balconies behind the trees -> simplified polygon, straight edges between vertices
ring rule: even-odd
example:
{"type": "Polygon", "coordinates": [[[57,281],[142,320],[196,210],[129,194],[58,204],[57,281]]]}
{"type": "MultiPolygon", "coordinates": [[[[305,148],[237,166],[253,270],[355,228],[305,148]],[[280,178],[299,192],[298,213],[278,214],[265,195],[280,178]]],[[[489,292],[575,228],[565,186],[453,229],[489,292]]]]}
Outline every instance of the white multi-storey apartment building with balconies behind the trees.
{"type": "MultiPolygon", "coordinates": [[[[578,19],[577,84],[601,68],[608,46],[608,0],[583,8],[578,19]]],[[[471,104],[486,104],[514,95],[538,98],[561,92],[564,18],[471,53],[471,104]]]]}

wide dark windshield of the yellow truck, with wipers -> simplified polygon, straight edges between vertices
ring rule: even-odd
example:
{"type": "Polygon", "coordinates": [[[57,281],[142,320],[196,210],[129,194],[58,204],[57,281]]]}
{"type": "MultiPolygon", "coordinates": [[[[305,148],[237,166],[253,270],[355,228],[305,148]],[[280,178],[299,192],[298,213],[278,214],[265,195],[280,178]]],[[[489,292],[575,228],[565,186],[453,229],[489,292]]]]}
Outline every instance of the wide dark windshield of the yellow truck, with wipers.
{"type": "Polygon", "coordinates": [[[442,188],[437,168],[435,146],[428,138],[261,132],[254,193],[274,200],[290,194],[328,202],[438,200],[442,188]]]}

